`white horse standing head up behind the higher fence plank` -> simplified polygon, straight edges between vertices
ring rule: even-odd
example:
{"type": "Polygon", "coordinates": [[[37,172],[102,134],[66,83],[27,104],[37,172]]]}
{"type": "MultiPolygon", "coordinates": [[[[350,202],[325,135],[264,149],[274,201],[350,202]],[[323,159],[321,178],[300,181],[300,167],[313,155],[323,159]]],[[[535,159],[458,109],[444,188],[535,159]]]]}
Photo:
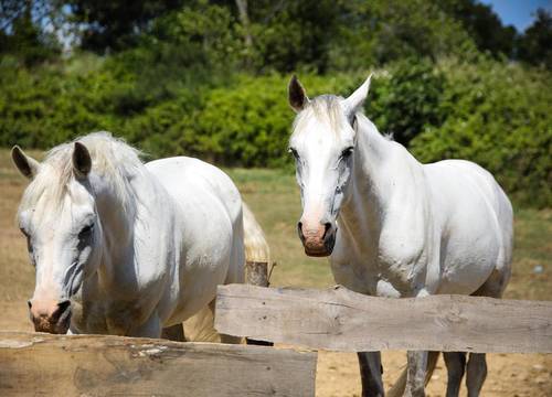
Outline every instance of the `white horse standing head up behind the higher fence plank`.
{"type": "MultiPolygon", "coordinates": [[[[370,296],[500,297],[510,278],[513,234],[505,192],[475,163],[421,164],[382,137],[361,112],[369,86],[370,77],[347,99],[310,100],[295,76],[289,83],[298,112],[289,150],[306,254],[330,256],[336,281],[370,296]]],[[[437,354],[407,353],[406,395],[424,395],[426,367],[437,354]]],[[[465,353],[444,356],[447,396],[458,395],[465,368],[468,395],[477,396],[485,354],[470,354],[467,366],[465,353]]],[[[383,396],[380,353],[359,353],[359,361],[363,396],[383,396]]]]}

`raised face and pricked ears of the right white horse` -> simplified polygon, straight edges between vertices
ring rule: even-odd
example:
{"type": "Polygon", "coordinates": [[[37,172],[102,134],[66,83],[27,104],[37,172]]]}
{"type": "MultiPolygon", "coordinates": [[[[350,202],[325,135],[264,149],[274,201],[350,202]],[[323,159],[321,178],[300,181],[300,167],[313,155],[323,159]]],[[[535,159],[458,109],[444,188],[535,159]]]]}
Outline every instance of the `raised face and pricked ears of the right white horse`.
{"type": "Polygon", "coordinates": [[[354,163],[355,114],[369,86],[370,77],[347,99],[309,100],[295,76],[289,83],[289,103],[298,112],[289,140],[302,203],[297,229],[308,256],[328,256],[333,250],[336,219],[347,200],[354,163]]]}

